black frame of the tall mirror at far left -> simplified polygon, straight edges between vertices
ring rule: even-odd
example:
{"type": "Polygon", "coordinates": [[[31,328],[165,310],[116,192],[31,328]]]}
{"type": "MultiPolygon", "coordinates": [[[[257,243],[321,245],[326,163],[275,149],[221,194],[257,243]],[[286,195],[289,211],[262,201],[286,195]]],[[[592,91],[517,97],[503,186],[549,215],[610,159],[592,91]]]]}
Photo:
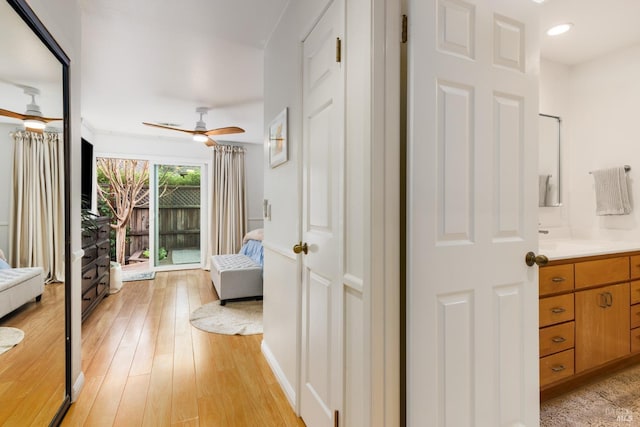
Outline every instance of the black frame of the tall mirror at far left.
{"type": "Polygon", "coordinates": [[[31,28],[42,43],[56,57],[62,66],[62,118],[64,143],[64,317],[65,317],[65,395],[52,426],[60,425],[71,406],[71,138],[69,104],[69,66],[70,59],[62,47],[53,38],[44,24],[33,12],[26,0],[7,0],[18,16],[31,28]]]}

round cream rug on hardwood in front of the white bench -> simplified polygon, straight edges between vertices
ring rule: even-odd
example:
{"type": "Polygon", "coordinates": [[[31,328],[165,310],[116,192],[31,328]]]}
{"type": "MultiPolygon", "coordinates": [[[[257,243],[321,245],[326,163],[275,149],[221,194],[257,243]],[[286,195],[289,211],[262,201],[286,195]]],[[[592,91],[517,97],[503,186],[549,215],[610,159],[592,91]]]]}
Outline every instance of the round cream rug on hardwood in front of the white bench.
{"type": "Polygon", "coordinates": [[[225,335],[254,335],[262,333],[262,301],[210,302],[196,309],[190,316],[198,329],[225,335]]]}

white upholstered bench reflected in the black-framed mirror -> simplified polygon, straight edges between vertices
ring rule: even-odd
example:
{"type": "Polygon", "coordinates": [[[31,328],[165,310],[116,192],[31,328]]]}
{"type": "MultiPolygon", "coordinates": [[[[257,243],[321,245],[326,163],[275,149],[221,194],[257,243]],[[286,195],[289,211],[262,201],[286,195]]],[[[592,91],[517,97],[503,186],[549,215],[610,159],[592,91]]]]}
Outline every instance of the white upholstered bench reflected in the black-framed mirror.
{"type": "Polygon", "coordinates": [[[41,267],[0,269],[0,317],[29,300],[40,301],[44,292],[41,267]]]}

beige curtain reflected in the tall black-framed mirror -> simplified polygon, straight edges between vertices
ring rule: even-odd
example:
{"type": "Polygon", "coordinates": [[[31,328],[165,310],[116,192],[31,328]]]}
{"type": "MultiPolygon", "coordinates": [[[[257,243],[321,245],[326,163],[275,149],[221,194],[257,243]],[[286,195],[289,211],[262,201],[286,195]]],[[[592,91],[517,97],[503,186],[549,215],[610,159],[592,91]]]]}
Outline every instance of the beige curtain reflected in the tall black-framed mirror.
{"type": "Polygon", "coordinates": [[[13,267],[42,267],[47,282],[64,281],[64,144],[61,134],[12,133],[13,267]]]}

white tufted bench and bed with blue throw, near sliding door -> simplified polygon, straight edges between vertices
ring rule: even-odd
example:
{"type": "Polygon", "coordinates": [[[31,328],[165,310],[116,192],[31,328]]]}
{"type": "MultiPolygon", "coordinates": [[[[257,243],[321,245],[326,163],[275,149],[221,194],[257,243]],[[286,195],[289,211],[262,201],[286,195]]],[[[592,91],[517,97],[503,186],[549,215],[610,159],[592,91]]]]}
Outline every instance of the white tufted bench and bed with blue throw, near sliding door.
{"type": "Polygon", "coordinates": [[[211,257],[211,281],[220,304],[228,300],[262,297],[262,229],[244,237],[240,252],[211,257]]]}

